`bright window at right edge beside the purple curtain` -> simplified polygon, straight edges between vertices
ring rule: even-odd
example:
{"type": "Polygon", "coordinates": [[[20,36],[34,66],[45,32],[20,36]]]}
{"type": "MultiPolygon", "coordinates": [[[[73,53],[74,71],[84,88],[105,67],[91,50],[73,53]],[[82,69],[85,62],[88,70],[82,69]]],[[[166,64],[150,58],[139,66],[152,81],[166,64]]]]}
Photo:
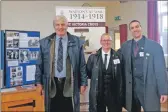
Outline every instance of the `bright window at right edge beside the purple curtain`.
{"type": "Polygon", "coordinates": [[[158,1],[160,44],[168,56],[168,1],[158,1]]]}

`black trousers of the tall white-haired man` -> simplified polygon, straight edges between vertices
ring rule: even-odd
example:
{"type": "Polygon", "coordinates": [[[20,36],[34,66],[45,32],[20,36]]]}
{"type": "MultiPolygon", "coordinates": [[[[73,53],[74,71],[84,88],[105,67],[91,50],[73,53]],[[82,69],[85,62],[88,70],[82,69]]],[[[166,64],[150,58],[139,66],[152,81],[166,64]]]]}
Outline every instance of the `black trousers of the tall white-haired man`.
{"type": "Polygon", "coordinates": [[[51,98],[50,112],[73,112],[72,97],[63,96],[65,79],[61,81],[57,78],[54,79],[57,87],[57,94],[54,98],[51,98]]]}

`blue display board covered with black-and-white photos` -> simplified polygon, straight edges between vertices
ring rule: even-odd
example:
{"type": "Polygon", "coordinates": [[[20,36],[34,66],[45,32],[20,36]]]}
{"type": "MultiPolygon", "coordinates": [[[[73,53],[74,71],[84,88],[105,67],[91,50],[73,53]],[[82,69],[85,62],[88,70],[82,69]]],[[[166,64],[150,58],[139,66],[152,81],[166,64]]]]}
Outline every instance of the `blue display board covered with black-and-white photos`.
{"type": "Polygon", "coordinates": [[[39,56],[40,32],[6,30],[5,36],[5,86],[9,88],[34,83],[34,71],[30,68],[36,65],[39,56]]]}

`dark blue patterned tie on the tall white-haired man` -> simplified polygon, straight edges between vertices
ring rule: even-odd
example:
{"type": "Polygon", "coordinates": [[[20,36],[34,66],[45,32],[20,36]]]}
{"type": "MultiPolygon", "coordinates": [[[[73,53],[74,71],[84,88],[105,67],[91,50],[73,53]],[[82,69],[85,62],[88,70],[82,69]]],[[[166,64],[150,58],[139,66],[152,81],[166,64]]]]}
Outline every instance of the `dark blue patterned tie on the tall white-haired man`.
{"type": "Polygon", "coordinates": [[[62,38],[59,40],[58,46],[58,59],[57,59],[57,70],[61,72],[63,70],[63,46],[62,46],[62,38]]]}

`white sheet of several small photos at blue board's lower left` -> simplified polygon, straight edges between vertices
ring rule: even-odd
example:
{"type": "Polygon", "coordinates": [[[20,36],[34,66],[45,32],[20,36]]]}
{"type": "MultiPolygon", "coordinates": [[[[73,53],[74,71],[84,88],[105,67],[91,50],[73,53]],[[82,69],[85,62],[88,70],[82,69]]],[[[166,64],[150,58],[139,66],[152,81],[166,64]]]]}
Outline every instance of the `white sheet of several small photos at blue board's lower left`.
{"type": "Polygon", "coordinates": [[[23,68],[19,67],[11,67],[10,68],[10,85],[17,86],[22,85],[23,83],[23,68]]]}

